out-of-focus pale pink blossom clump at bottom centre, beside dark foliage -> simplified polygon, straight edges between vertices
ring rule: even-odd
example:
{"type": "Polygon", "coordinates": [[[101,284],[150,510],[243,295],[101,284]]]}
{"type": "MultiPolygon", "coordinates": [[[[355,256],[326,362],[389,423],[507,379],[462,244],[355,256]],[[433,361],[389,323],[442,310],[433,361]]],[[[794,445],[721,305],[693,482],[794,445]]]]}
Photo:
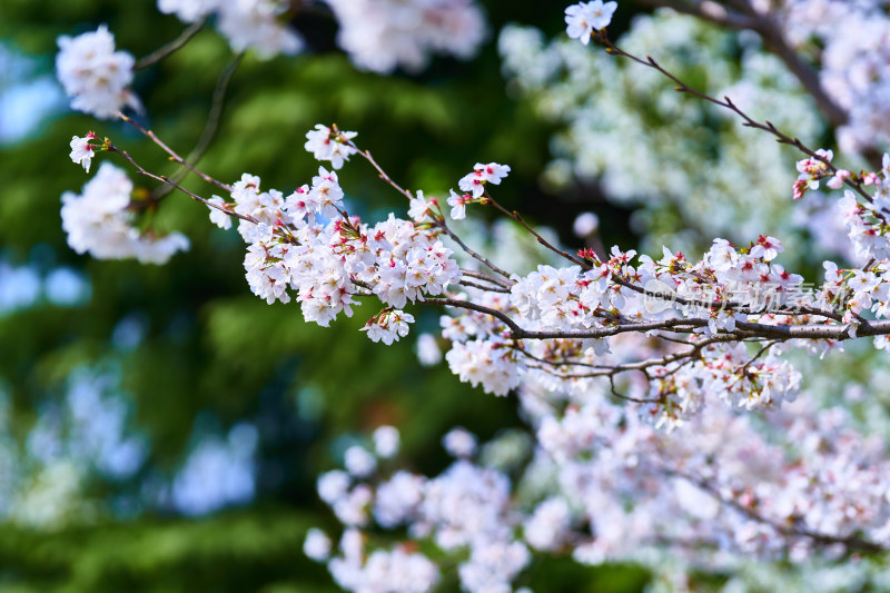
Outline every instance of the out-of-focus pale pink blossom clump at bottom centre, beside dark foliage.
{"type": "MultiPolygon", "coordinates": [[[[455,429],[444,441],[467,437],[474,438],[455,429]]],[[[383,457],[379,451],[377,455],[383,457]]],[[[510,591],[510,583],[531,560],[517,536],[522,515],[511,501],[510,478],[469,458],[456,459],[434,478],[397,471],[384,480],[334,470],[318,478],[318,493],[346,530],[339,555],[330,557],[329,540],[317,530],[309,532],[304,551],[327,561],[335,581],[347,591],[422,593],[441,579],[436,564],[419,552],[408,553],[406,545],[366,551],[369,536],[359,530],[372,520],[386,530],[406,528],[413,538],[429,537],[446,554],[466,554],[457,573],[469,593],[510,591]]],[[[546,545],[553,515],[545,508],[535,517],[528,531],[536,543],[546,545]]]]}

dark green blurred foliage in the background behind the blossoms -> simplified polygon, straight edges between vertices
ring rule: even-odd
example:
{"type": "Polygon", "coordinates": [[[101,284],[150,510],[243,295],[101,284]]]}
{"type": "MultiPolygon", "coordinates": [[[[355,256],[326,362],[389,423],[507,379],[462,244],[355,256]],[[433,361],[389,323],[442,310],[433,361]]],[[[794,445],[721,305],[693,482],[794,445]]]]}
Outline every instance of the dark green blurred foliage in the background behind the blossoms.
{"type": "MultiPolygon", "coordinates": [[[[296,24],[312,40],[312,51],[269,61],[248,53],[201,167],[224,180],[250,171],[263,177],[264,187],[288,191],[317,167],[303,149],[306,130],[337,122],[358,130],[360,145],[395,179],[427,194],[446,191],[477,160],[511,164],[514,172],[498,189],[503,201],[560,229],[571,244],[571,220],[596,207],[599,198],[592,191],[554,196],[540,189],[552,130],[528,105],[510,98],[494,43],[508,20],[558,31],[563,7],[508,0],[485,7],[492,34],[482,55],[471,62],[437,59],[416,76],[357,71],[336,50],[333,23],[300,17],[296,24]]],[[[182,29],[150,0],[0,2],[0,40],[30,60],[26,78],[52,72],[58,36],[102,22],[118,47],[137,57],[182,29]]],[[[186,49],[137,75],[135,90],[148,123],[170,146],[187,152],[195,145],[231,58],[208,27],[186,49]]],[[[14,82],[4,76],[0,83],[14,82]]],[[[421,368],[411,340],[372,344],[357,329],[373,310],[323,329],[304,324],[294,303],[270,307],[254,298],[237,236],[209,225],[206,208],[181,195],[168,197],[152,220],[192,243],[168,265],[76,255],[61,230],[59,197],[79,191],[88,179],[67,152],[68,139],[90,129],[112,137],[152,171],[176,170],[123,125],[66,109],[27,138],[0,147],[0,259],[40,273],[71,268],[91,287],[89,298],[75,306],[41,297],[0,313],[0,391],[9,398],[10,418],[4,438],[11,438],[9,451],[27,459],[27,435],[48,405],[63,399],[70,374],[112,369],[115,391],[129,406],[127,431],[144,438],[148,455],[123,480],[93,468],[77,501],[50,525],[34,527],[7,515],[0,524],[0,590],[335,591],[324,566],[303,556],[301,542],[309,526],[335,527],[316,498],[315,476],[340,461],[349,438],[394,424],[402,431],[405,463],[437,472],[448,463],[438,445],[448,428],[461,424],[491,437],[520,425],[514,403],[474,391],[441,366],[421,368]],[[145,328],[137,345],[115,339],[122,319],[145,328]],[[240,422],[259,432],[254,502],[200,518],[146,502],[146,484],[175,475],[205,434],[225,434],[240,422]]],[[[115,160],[100,156],[107,158],[115,160]]],[[[347,166],[342,181],[365,217],[404,207],[364,162],[347,166]]],[[[187,187],[212,192],[194,179],[187,187]]],[[[607,241],[633,241],[622,213],[605,216],[607,241]]],[[[416,313],[421,326],[437,325],[437,314],[416,313]]],[[[27,496],[29,483],[4,488],[27,496]]],[[[567,561],[545,561],[530,575],[535,591],[636,591],[645,581],[635,567],[587,570],[567,561]]]]}

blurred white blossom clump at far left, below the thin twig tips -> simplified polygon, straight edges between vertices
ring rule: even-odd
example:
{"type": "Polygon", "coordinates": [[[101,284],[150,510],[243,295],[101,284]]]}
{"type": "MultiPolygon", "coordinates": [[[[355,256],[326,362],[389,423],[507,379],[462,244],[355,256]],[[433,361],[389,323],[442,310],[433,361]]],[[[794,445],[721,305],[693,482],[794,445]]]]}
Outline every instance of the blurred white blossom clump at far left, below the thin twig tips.
{"type": "Polygon", "coordinates": [[[188,238],[179,233],[158,235],[134,227],[131,194],[132,182],[109,162],[99,167],[81,195],[63,194],[61,217],[68,245],[97,259],[136,258],[144,264],[164,264],[175,253],[188,249],[188,238]]]}

